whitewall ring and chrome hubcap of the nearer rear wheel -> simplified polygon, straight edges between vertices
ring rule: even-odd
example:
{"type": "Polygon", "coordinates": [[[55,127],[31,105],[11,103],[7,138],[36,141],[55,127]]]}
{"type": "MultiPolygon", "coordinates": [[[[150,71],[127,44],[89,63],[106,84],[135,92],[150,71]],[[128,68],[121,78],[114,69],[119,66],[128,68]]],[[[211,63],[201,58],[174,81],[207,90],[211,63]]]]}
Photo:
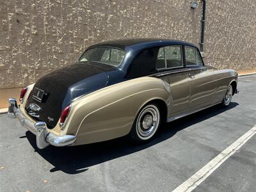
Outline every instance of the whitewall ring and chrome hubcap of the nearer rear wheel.
{"type": "Polygon", "coordinates": [[[160,122],[159,109],[150,104],[143,108],[136,121],[136,132],[141,140],[148,140],[154,136],[160,122]]]}

